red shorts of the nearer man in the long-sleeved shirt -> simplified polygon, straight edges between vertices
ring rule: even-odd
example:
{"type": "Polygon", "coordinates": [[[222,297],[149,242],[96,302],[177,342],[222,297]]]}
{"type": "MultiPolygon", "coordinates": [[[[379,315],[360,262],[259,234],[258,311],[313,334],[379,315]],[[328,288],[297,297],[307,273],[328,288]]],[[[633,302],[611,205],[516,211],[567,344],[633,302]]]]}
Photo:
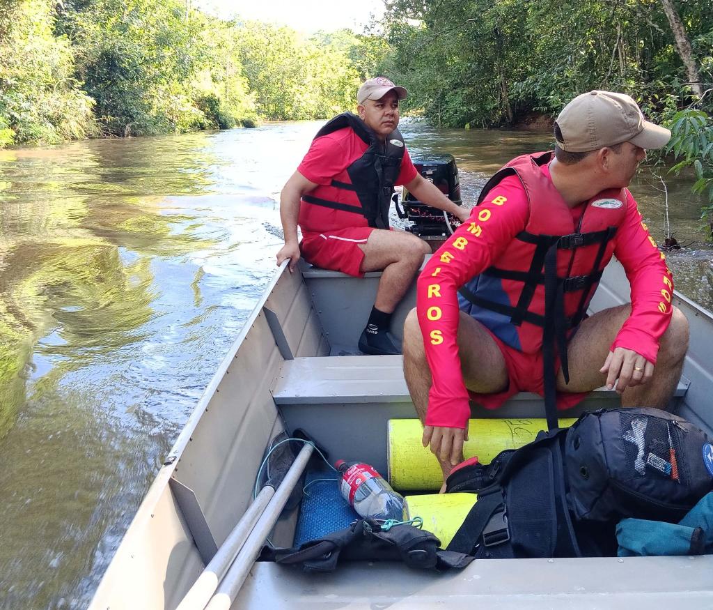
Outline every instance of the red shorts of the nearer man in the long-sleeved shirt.
{"type": "MultiPolygon", "coordinates": [[[[535,354],[524,354],[519,349],[503,343],[489,329],[486,331],[493,337],[505,359],[505,367],[508,371],[508,388],[496,394],[478,394],[468,390],[468,394],[473,401],[476,401],[486,409],[498,409],[503,403],[518,392],[534,392],[545,395],[545,384],[543,379],[543,356],[538,351],[535,354]]],[[[560,359],[557,358],[555,366],[559,369],[560,359]]],[[[557,409],[565,411],[571,409],[575,404],[583,401],[590,392],[558,392],[557,409]]]]}

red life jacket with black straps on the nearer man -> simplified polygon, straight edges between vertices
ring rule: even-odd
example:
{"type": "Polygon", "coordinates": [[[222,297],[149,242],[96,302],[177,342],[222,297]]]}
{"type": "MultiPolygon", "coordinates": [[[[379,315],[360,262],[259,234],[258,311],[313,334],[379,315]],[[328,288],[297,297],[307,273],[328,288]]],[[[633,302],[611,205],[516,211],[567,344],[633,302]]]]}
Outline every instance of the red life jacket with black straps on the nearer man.
{"type": "Polygon", "coordinates": [[[483,187],[478,204],[506,176],[517,176],[528,196],[530,216],[496,263],[458,294],[461,309],[504,343],[528,354],[543,351],[545,403],[548,390],[554,400],[555,341],[569,381],[568,334],[586,316],[627,206],[624,189],[602,191],[584,204],[575,226],[569,207],[540,169],[552,158],[552,151],[518,156],[483,187]]]}

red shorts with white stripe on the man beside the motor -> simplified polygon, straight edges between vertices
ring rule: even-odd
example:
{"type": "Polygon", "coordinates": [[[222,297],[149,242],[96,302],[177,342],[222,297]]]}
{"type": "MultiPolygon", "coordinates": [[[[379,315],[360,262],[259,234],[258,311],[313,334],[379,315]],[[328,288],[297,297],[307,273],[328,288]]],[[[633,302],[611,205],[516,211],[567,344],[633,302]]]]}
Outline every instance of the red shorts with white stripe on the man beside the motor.
{"type": "Polygon", "coordinates": [[[355,277],[364,276],[361,271],[361,261],[364,251],[359,244],[366,244],[372,226],[353,226],[339,231],[324,231],[324,233],[302,233],[299,249],[308,262],[322,269],[342,271],[355,277]]]}

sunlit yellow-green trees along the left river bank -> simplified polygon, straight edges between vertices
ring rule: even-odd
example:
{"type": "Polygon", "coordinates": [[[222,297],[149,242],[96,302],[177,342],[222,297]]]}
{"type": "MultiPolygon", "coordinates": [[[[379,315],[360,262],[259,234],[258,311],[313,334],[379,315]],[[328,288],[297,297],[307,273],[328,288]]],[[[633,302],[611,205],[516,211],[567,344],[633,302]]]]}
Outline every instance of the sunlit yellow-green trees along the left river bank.
{"type": "Polygon", "coordinates": [[[0,0],[0,147],[326,118],[385,48],[185,0],[0,0]]]}

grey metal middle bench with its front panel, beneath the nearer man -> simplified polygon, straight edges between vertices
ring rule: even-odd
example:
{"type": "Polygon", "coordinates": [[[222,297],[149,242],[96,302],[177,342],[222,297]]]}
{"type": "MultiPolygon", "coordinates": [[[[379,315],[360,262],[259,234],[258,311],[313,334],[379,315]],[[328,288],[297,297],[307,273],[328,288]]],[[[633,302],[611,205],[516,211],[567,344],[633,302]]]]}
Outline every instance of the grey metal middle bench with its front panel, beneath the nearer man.
{"type": "MultiPolygon", "coordinates": [[[[272,384],[272,398],[289,431],[302,430],[332,459],[363,460],[389,472],[387,447],[390,419],[413,419],[414,404],[404,381],[402,356],[312,356],[285,360],[272,384]],[[364,430],[368,429],[368,434],[364,430]],[[359,434],[355,434],[359,432],[359,434]]],[[[685,394],[679,384],[672,408],[685,394]]],[[[563,417],[619,406],[615,391],[597,389],[563,417]]],[[[515,394],[496,411],[471,402],[476,419],[544,417],[537,394],[515,394]]]]}

